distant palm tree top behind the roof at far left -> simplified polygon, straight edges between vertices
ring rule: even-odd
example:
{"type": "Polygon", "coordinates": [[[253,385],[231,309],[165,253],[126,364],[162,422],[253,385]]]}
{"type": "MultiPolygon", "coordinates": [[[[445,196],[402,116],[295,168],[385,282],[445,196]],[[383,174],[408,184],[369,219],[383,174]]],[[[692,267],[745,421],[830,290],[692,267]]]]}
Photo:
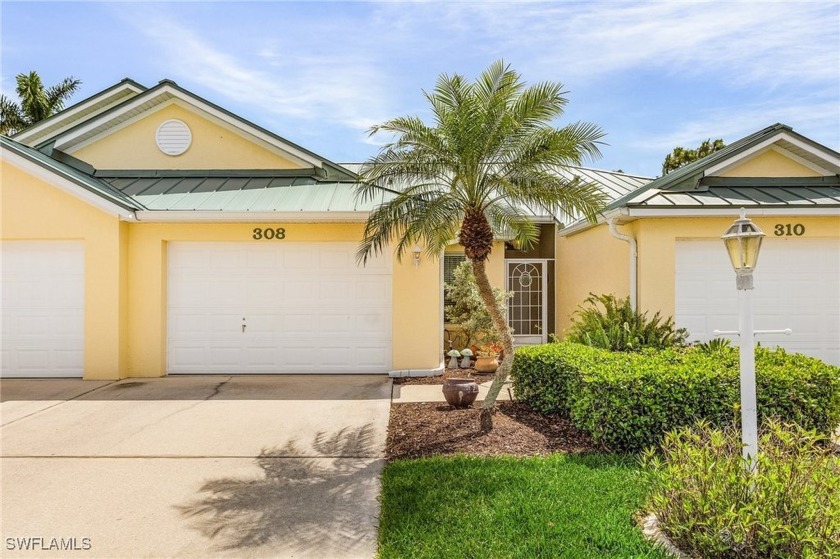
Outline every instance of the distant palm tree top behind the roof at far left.
{"type": "Polygon", "coordinates": [[[34,70],[18,74],[17,94],[20,104],[0,96],[0,134],[11,135],[48,118],[64,108],[67,100],[82,83],[73,77],[44,88],[41,76],[34,70]]]}

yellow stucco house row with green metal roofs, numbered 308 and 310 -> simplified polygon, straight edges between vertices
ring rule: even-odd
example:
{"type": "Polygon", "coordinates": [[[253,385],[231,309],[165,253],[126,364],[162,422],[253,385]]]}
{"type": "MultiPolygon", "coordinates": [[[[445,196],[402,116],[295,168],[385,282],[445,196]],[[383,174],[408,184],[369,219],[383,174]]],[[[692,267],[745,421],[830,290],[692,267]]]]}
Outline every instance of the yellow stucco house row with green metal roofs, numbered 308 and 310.
{"type": "MultiPolygon", "coordinates": [[[[463,255],[358,266],[377,202],[355,200],[357,166],[171,81],[123,80],[0,141],[3,376],[442,367],[442,285],[463,255]]],[[[768,234],[756,326],[794,330],[764,343],[840,364],[840,154],[775,125],[654,181],[565,172],[614,201],[595,224],[533,211],[528,252],[496,244],[519,343],[562,336],[589,292],[630,294],[692,339],[733,329],[719,237],[745,207],[768,234]]]]}

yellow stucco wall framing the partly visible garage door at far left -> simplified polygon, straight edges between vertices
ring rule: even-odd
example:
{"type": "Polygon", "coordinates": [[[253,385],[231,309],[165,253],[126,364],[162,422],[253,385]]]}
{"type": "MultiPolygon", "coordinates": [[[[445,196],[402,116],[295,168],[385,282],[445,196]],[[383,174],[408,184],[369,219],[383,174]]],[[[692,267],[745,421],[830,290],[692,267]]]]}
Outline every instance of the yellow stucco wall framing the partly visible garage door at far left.
{"type": "Polygon", "coordinates": [[[84,242],[84,375],[87,379],[124,376],[127,224],[5,160],[0,163],[0,179],[3,240],[84,242]]]}

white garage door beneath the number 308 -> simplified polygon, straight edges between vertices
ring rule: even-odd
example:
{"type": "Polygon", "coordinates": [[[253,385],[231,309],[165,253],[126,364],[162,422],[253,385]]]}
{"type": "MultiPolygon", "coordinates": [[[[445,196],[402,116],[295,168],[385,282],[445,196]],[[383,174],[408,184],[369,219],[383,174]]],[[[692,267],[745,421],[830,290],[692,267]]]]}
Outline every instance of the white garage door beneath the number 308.
{"type": "Polygon", "coordinates": [[[391,264],[355,243],[170,243],[170,373],[385,373],[391,264]]]}

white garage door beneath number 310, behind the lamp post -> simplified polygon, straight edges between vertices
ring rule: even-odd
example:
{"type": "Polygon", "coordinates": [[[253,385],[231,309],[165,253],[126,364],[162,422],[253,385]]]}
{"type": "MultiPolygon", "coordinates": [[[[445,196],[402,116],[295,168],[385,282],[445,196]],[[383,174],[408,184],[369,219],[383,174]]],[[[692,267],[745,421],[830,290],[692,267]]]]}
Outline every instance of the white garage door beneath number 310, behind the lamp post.
{"type": "MultiPolygon", "coordinates": [[[[678,241],[676,322],[690,340],[738,329],[735,272],[723,242],[678,241]]],[[[763,335],[765,346],[840,365],[840,243],[828,239],[767,237],[753,291],[756,329],[791,328],[791,336],[763,335]]],[[[737,343],[737,339],[736,339],[737,343]]]]}

